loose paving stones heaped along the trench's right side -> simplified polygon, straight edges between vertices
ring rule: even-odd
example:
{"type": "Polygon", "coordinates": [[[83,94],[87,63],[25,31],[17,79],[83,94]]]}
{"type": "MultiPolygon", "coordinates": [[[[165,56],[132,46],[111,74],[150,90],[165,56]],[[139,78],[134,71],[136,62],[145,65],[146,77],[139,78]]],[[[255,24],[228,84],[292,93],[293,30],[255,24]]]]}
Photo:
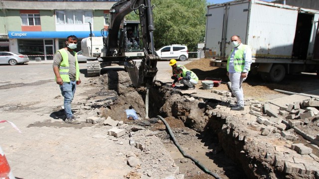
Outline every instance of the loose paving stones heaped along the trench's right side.
{"type": "MultiPolygon", "coordinates": [[[[242,112],[231,111],[228,107],[229,103],[235,102],[231,93],[218,90],[212,92],[223,95],[225,98],[222,98],[222,102],[215,109],[207,111],[207,114],[225,120],[222,127],[223,133],[236,138],[236,141],[246,143],[250,137],[247,136],[247,132],[243,132],[243,126],[240,126],[238,121],[247,120],[247,107],[242,112]]],[[[298,140],[296,132],[312,144],[319,146],[319,135],[311,136],[307,133],[308,131],[305,132],[298,128],[302,125],[313,125],[315,128],[319,126],[319,100],[310,99],[294,102],[280,107],[279,110],[271,108],[271,103],[259,102],[254,99],[245,99],[245,105],[249,105],[249,114],[256,117],[261,129],[260,135],[267,136],[274,133],[287,140],[285,146],[273,145],[275,149],[273,167],[281,169],[286,174],[319,179],[319,158],[312,153],[312,148],[302,143],[294,143],[298,140]]],[[[252,118],[250,117],[250,119],[252,118]]]]}

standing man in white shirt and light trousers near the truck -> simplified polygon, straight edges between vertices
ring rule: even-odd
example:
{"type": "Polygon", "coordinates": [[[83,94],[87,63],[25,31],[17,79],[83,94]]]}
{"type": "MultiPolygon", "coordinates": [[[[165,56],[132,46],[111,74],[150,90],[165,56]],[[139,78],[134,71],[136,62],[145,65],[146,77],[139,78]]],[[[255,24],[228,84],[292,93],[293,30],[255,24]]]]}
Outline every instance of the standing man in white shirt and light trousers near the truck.
{"type": "Polygon", "coordinates": [[[236,96],[237,104],[231,105],[231,110],[244,110],[243,81],[246,80],[252,61],[252,52],[248,45],[241,43],[238,35],[231,37],[233,49],[227,60],[227,76],[231,82],[232,93],[236,96]]]}

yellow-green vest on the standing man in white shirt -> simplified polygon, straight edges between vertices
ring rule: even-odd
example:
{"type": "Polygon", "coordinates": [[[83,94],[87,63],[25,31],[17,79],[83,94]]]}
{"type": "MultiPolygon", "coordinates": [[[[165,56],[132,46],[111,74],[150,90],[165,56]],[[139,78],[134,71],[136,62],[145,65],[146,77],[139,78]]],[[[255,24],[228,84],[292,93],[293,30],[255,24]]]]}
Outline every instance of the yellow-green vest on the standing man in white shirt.
{"type": "MultiPolygon", "coordinates": [[[[236,72],[242,72],[244,70],[244,67],[245,67],[244,53],[246,48],[247,48],[247,45],[241,45],[234,55],[234,68],[236,72]]],[[[231,53],[233,53],[233,51],[234,49],[232,49],[231,53]]],[[[230,55],[227,60],[227,71],[229,71],[229,60],[230,60],[230,55]]]]}

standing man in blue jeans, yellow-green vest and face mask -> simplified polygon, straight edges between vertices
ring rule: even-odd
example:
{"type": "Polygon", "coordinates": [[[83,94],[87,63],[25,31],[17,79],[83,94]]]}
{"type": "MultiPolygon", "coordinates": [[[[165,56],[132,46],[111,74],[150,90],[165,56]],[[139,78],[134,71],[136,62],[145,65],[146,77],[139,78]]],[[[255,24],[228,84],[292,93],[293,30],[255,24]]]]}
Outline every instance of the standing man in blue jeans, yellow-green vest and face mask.
{"type": "Polygon", "coordinates": [[[75,51],[78,38],[74,35],[67,37],[65,48],[58,50],[53,58],[53,72],[56,83],[60,86],[64,97],[65,122],[70,124],[80,124],[72,114],[71,102],[74,97],[76,85],[81,84],[79,63],[75,51]]]}

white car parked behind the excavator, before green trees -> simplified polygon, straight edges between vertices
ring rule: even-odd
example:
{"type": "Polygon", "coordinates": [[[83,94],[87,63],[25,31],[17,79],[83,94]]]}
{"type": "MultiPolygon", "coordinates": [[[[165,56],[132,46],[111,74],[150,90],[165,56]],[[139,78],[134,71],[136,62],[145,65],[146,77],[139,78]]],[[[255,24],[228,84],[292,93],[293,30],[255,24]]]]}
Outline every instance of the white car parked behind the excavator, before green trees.
{"type": "Polygon", "coordinates": [[[176,59],[179,61],[185,61],[188,59],[188,50],[186,45],[172,44],[167,45],[160,50],[156,51],[161,59],[169,60],[176,59]]]}

